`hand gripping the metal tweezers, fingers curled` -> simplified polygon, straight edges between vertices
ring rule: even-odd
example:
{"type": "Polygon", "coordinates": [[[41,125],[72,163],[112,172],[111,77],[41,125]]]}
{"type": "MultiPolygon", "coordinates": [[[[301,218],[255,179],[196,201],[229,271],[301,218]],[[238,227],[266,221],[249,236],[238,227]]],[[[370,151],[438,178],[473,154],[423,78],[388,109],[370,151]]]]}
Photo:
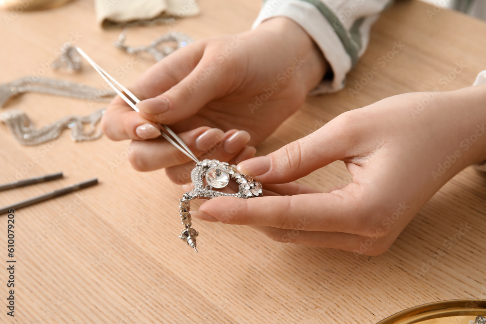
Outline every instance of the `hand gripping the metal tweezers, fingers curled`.
{"type": "Polygon", "coordinates": [[[275,17],[242,34],[196,41],[158,62],[131,87],[144,99],[140,113],[115,98],[103,132],[138,141],[130,156],[136,170],[166,168],[172,180],[187,182],[177,175],[193,162],[159,137],[159,123],[197,156],[238,163],[302,105],[326,69],[310,36],[275,17]]]}

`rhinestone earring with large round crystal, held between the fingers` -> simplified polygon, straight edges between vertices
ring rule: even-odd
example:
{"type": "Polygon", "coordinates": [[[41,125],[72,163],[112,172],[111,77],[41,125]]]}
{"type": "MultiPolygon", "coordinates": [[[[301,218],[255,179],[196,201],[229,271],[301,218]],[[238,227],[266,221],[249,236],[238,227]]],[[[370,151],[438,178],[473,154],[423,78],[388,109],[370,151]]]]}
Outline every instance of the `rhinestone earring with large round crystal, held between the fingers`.
{"type": "Polygon", "coordinates": [[[197,162],[196,167],[191,171],[191,181],[194,189],[186,192],[179,201],[179,215],[184,225],[179,238],[185,240],[196,252],[196,236],[198,232],[191,227],[191,200],[211,199],[221,196],[246,199],[258,197],[262,194],[260,182],[253,180],[252,177],[246,174],[235,171],[235,165],[228,165],[226,162],[209,159],[197,162]],[[208,186],[204,185],[203,179],[206,179],[208,186]],[[238,192],[227,193],[213,190],[213,188],[226,187],[230,179],[235,180],[239,184],[238,192]]]}

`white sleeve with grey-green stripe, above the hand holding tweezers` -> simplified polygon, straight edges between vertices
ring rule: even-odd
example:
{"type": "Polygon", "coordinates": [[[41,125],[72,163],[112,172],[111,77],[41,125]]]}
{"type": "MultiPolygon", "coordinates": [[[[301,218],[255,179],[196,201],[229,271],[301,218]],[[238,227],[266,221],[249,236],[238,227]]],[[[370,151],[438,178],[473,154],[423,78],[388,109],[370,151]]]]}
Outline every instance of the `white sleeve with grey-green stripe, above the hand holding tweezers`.
{"type": "Polygon", "coordinates": [[[314,40],[332,69],[311,94],[341,90],[368,45],[371,25],[393,0],[266,0],[252,28],[266,19],[294,20],[314,40]]]}

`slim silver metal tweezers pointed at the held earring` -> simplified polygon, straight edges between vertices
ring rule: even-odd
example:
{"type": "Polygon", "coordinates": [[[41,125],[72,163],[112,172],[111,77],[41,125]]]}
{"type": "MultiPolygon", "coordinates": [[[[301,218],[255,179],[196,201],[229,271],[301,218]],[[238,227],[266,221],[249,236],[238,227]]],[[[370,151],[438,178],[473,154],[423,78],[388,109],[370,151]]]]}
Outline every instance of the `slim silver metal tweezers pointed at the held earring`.
{"type": "MultiPolygon", "coordinates": [[[[78,51],[91,66],[103,77],[104,81],[110,85],[113,90],[123,99],[133,110],[139,112],[139,108],[136,106],[140,100],[127,88],[121,85],[118,81],[116,81],[111,75],[106,73],[103,68],[100,68],[98,64],[96,64],[83,50],[79,47],[75,47],[76,51],[78,51]]],[[[182,141],[182,139],[177,136],[174,131],[172,131],[167,125],[159,124],[162,130],[162,136],[167,139],[172,145],[174,145],[179,151],[189,156],[192,160],[196,163],[199,162],[196,155],[192,153],[189,147],[182,141]]]]}

